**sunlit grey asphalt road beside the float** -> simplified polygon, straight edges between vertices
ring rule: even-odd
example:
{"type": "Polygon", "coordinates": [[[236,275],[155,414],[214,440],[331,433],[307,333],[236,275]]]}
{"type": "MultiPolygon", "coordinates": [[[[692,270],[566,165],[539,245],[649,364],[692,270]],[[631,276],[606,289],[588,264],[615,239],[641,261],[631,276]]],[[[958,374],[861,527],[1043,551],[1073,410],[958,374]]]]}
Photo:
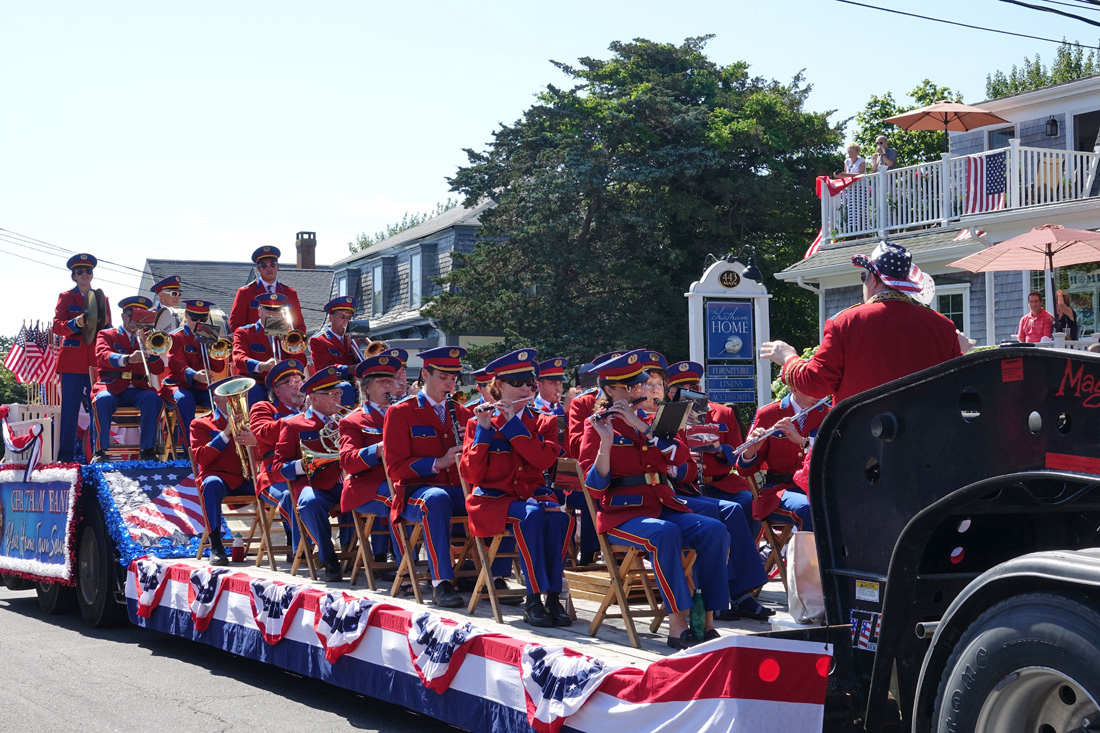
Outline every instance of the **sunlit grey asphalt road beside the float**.
{"type": "Polygon", "coordinates": [[[0,584],[0,731],[458,729],[403,708],[136,626],[47,616],[0,584]]]}

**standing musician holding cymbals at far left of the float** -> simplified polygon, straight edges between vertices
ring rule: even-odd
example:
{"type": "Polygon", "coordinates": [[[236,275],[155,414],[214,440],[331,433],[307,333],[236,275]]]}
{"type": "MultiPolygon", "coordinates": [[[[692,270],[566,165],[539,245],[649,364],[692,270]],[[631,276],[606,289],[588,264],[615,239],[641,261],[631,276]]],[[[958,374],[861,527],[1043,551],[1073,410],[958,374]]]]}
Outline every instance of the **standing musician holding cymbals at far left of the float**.
{"type": "MultiPolygon", "coordinates": [[[[57,357],[57,373],[62,378],[62,415],[58,435],[57,460],[72,463],[77,456],[76,431],[82,404],[91,414],[91,370],[96,366],[96,343],[85,343],[80,336],[84,328],[84,303],[91,289],[96,258],[90,254],[74,254],[66,265],[69,277],[76,285],[57,296],[54,307],[53,331],[62,339],[57,357]]],[[[111,324],[111,307],[103,298],[100,304],[111,324]]]]}

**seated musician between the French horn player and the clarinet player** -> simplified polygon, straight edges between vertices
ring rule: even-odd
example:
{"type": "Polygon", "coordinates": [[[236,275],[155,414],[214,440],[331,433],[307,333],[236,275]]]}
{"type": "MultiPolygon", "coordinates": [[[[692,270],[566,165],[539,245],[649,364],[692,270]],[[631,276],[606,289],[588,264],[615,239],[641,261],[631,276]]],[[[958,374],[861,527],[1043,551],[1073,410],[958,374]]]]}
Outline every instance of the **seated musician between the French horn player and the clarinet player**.
{"type": "MultiPolygon", "coordinates": [[[[374,514],[383,522],[389,521],[389,484],[382,467],[382,424],[395,401],[397,381],[394,375],[400,366],[396,357],[371,357],[355,366],[355,379],[363,404],[340,420],[340,468],[344,470],[340,511],[374,514]]],[[[386,561],[385,537],[372,538],[375,562],[386,561]]]]}

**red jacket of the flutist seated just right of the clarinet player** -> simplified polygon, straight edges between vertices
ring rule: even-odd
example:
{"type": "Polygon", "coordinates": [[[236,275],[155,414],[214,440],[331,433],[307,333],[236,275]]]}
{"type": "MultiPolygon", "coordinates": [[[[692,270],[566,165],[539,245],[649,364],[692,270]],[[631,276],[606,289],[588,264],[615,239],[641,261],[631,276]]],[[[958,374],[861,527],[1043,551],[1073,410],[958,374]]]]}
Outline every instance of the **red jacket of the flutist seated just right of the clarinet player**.
{"type": "Polygon", "coordinates": [[[460,466],[471,490],[466,513],[476,537],[504,532],[508,505],[514,501],[556,501],[543,485],[543,471],[561,453],[557,418],[537,415],[527,406],[512,419],[505,419],[503,413],[493,415],[488,429],[480,427],[477,418],[470,418],[465,446],[460,466]]]}

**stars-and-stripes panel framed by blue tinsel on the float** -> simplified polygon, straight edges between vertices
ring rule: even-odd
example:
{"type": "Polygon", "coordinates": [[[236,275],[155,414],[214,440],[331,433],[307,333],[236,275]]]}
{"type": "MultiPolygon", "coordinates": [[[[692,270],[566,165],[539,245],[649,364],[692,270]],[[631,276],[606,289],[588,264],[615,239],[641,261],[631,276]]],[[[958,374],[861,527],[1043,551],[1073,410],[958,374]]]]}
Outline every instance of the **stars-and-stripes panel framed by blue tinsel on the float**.
{"type": "Polygon", "coordinates": [[[202,500],[195,477],[186,469],[121,469],[105,471],[103,480],[130,537],[139,545],[156,545],[164,537],[187,545],[191,537],[202,535],[202,500]]]}

